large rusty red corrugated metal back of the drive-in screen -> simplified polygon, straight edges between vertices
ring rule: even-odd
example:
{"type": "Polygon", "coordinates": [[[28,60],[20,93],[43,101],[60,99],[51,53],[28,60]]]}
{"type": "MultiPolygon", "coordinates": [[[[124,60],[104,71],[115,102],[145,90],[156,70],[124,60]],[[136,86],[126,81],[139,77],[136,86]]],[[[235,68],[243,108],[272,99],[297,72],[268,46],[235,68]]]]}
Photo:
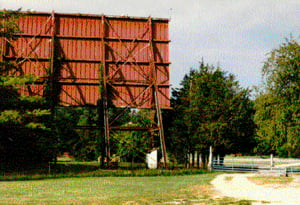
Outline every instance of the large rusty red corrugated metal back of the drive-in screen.
{"type": "Polygon", "coordinates": [[[96,105],[105,82],[117,107],[161,108],[169,102],[167,19],[31,13],[19,20],[16,41],[2,39],[3,56],[22,74],[40,77],[30,95],[59,87],[59,104],[96,105]]]}

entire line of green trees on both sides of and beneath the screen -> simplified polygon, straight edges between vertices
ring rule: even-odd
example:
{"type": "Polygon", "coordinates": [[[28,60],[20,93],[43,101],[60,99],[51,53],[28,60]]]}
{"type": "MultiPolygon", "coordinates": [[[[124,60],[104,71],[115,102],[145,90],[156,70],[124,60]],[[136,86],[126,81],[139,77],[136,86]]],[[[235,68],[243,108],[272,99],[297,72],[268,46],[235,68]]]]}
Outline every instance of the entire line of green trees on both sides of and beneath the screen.
{"type": "MultiPolygon", "coordinates": [[[[21,32],[15,23],[19,17],[18,11],[0,13],[1,37],[16,40],[14,34],[21,32]]],[[[299,157],[299,62],[298,40],[286,39],[268,54],[262,68],[264,83],[251,97],[252,91],[242,88],[233,74],[201,61],[184,76],[180,88],[172,90],[172,109],[163,111],[169,158],[178,163],[201,158],[205,163],[210,146],[220,156],[299,157]]],[[[1,56],[0,164],[47,162],[63,152],[80,160],[103,155],[101,130],[78,128],[101,124],[101,111],[60,107],[53,114],[47,96],[20,94],[22,87],[35,81],[36,77],[22,75],[16,64],[1,56]]],[[[149,123],[145,112],[129,110],[118,123],[145,125],[149,123]]],[[[143,161],[145,153],[159,144],[150,138],[147,132],[115,133],[112,152],[127,161],[143,161]]]]}

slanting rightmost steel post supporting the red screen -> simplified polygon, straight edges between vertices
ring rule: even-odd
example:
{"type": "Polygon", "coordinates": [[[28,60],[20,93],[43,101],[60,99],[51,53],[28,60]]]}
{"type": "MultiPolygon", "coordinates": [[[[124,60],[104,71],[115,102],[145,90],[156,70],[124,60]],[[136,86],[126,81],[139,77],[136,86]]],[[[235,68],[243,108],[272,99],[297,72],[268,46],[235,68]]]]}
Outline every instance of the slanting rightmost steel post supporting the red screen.
{"type": "Polygon", "coordinates": [[[154,97],[154,104],[155,104],[155,110],[157,115],[157,125],[158,125],[158,131],[159,131],[159,137],[160,137],[160,145],[161,145],[161,151],[164,158],[164,166],[167,168],[167,150],[166,150],[166,144],[165,144],[165,136],[164,136],[164,128],[162,123],[162,114],[161,114],[161,108],[160,108],[160,102],[158,99],[158,85],[157,85],[157,67],[155,64],[155,56],[154,56],[154,46],[153,46],[153,24],[152,24],[152,18],[149,17],[149,44],[151,49],[151,62],[150,67],[152,71],[152,83],[153,83],[153,97],[154,97]]]}

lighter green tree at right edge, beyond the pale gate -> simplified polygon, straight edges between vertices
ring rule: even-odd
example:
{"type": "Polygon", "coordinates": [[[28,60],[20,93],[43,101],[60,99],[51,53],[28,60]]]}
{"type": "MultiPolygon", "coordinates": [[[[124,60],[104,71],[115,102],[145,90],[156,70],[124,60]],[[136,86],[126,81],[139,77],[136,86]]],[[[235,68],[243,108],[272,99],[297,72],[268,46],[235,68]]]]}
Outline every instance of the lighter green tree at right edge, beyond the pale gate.
{"type": "Polygon", "coordinates": [[[264,90],[255,101],[258,153],[300,156],[300,46],[286,39],[264,63],[264,90]]]}

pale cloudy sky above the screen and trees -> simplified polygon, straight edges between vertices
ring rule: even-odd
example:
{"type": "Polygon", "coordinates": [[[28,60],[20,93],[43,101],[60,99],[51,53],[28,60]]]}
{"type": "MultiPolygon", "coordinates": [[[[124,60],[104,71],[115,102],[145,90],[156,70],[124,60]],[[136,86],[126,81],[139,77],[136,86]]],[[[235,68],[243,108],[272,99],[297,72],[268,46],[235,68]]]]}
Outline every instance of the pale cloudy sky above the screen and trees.
{"type": "Polygon", "coordinates": [[[299,0],[0,0],[0,9],[169,18],[170,83],[205,63],[261,84],[267,54],[300,37],[299,0]]]}

